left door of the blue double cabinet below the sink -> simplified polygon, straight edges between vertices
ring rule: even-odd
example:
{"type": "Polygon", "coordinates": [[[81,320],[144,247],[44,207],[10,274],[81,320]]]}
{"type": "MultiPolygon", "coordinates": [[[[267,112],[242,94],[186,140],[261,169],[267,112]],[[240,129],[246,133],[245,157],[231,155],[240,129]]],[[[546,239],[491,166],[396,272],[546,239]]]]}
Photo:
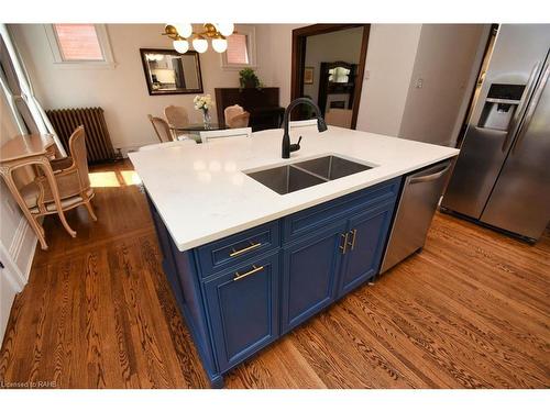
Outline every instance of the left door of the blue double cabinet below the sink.
{"type": "Polygon", "coordinates": [[[345,224],[332,225],[284,248],[283,333],[334,300],[344,231],[345,224]]]}

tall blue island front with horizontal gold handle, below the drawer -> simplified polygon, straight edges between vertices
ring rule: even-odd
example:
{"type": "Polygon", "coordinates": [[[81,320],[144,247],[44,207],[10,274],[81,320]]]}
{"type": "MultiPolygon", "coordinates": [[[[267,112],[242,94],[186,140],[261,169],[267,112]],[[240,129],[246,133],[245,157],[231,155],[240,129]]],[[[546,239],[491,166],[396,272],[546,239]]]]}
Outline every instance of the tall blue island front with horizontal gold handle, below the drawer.
{"type": "Polygon", "coordinates": [[[278,336],[278,254],[244,265],[205,288],[221,371],[278,336]],[[246,272],[251,275],[243,276],[246,272]]]}

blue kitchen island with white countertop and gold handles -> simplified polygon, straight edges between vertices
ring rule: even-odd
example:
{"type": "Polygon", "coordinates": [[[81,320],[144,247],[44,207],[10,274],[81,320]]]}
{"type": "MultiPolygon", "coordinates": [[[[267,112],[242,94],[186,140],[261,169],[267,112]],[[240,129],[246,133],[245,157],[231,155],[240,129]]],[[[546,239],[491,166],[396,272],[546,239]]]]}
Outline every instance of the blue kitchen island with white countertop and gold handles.
{"type": "Polygon", "coordinates": [[[130,154],[147,192],[165,274],[213,387],[374,277],[403,177],[458,154],[340,127],[300,127],[292,140],[298,135],[301,149],[289,159],[280,158],[280,130],[130,154]],[[365,170],[286,194],[254,178],[320,157],[365,170]]]}

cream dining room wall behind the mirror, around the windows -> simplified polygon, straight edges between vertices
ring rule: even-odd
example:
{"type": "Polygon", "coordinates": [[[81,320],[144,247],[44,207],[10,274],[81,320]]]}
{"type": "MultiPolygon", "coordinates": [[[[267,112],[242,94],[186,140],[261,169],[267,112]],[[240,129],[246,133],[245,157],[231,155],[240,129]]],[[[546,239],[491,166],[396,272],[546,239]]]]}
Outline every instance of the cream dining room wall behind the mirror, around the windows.
{"type": "MultiPolygon", "coordinates": [[[[172,48],[172,42],[161,35],[162,24],[108,24],[117,64],[113,69],[55,65],[42,24],[16,24],[11,30],[44,109],[102,107],[114,147],[155,142],[146,115],[164,116],[168,104],[184,105],[191,122],[201,121],[200,113],[193,109],[195,94],[148,96],[140,48],[172,48]]],[[[256,33],[257,74],[266,86],[272,86],[271,67],[264,63],[268,53],[262,53],[266,43],[262,35],[262,31],[256,33]],[[264,76],[266,70],[268,76],[264,76]]],[[[200,55],[200,67],[205,93],[212,98],[217,87],[239,87],[239,70],[222,69],[220,55],[211,48],[200,55]]],[[[216,121],[216,110],[212,119],[216,121]]]]}

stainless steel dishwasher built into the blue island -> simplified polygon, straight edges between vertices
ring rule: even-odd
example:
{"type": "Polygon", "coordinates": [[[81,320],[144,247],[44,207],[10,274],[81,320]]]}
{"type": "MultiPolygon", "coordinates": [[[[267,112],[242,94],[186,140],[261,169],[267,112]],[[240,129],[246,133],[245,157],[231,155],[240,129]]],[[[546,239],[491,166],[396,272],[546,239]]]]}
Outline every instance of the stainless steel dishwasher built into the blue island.
{"type": "Polygon", "coordinates": [[[381,274],[424,247],[451,162],[438,163],[405,178],[381,274]]]}

